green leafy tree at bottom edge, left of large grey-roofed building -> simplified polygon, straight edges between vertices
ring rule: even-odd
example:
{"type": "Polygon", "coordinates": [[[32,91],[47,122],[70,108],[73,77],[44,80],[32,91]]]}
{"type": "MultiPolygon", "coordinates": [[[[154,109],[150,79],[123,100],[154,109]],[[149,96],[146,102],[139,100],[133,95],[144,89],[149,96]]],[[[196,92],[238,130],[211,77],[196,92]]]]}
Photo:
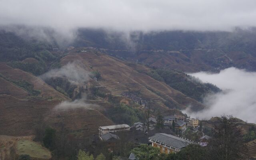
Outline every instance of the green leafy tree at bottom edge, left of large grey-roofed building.
{"type": "Polygon", "coordinates": [[[148,144],[141,144],[139,147],[132,149],[138,160],[158,160],[160,149],[153,146],[148,146],[148,144]]]}

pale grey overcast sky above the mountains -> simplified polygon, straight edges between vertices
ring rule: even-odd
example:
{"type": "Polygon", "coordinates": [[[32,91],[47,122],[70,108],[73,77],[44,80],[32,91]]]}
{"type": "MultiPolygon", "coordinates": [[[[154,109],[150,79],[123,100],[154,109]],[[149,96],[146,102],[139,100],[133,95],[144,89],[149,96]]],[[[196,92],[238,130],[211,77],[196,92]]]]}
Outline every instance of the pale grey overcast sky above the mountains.
{"type": "Polygon", "coordinates": [[[114,30],[256,26],[256,0],[0,0],[0,24],[114,30]]]}

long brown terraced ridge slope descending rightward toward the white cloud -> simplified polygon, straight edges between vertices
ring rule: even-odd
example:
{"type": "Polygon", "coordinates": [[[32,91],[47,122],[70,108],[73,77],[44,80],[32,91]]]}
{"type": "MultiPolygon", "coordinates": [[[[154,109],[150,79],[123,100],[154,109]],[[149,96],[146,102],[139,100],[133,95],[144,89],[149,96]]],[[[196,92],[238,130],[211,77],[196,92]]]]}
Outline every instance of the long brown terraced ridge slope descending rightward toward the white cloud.
{"type": "Polygon", "coordinates": [[[62,65],[69,62],[80,61],[84,69],[98,70],[102,76],[100,85],[105,86],[112,94],[120,95],[123,92],[139,92],[140,97],[152,102],[153,107],[167,109],[164,101],[168,100],[172,108],[200,110],[204,105],[189,98],[181,92],[171,88],[163,82],[159,82],[150,76],[136,71],[125,62],[110,57],[95,50],[87,52],[71,52],[62,58],[62,65]]]}

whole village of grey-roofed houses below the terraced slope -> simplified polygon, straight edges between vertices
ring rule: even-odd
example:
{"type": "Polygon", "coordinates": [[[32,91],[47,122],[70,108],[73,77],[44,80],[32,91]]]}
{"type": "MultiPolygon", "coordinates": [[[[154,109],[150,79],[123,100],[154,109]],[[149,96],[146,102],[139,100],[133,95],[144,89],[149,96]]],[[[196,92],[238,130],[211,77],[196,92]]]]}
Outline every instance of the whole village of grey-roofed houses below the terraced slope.
{"type": "MultiPolygon", "coordinates": [[[[172,115],[163,116],[161,121],[163,128],[160,128],[160,130],[157,128],[159,124],[158,119],[154,117],[148,118],[146,124],[136,122],[132,126],[127,124],[100,126],[98,128],[98,136],[101,141],[108,143],[111,152],[115,141],[120,139],[118,135],[125,135],[125,138],[131,139],[131,141],[134,141],[138,145],[148,144],[153,147],[158,147],[160,148],[160,153],[165,154],[179,152],[189,144],[198,144],[202,147],[207,146],[210,136],[206,134],[200,136],[197,141],[184,137],[186,130],[197,133],[200,128],[202,128],[198,118],[186,118],[183,115],[172,115]]],[[[131,153],[128,159],[136,160],[136,157],[131,153]]]]}

